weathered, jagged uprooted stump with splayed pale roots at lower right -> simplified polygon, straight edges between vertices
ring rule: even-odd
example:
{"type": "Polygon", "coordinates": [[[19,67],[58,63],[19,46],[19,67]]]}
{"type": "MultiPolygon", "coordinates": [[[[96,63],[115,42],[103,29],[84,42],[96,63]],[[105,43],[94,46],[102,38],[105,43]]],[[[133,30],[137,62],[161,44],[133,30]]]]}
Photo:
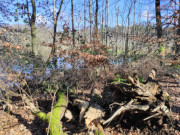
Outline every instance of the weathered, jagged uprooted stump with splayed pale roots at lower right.
{"type": "Polygon", "coordinates": [[[123,94],[128,93],[131,100],[127,101],[123,106],[120,106],[110,118],[103,122],[103,124],[105,125],[114,120],[117,116],[132,110],[148,113],[150,116],[144,118],[144,121],[161,114],[168,116],[171,112],[170,106],[168,105],[169,94],[160,88],[158,82],[154,80],[155,77],[156,69],[151,70],[145,83],[140,83],[137,73],[134,73],[133,77],[126,76],[131,87],[127,87],[129,89],[126,89],[126,87],[119,87],[121,92],[124,90],[122,92],[123,94]],[[138,103],[136,101],[138,101],[138,103]],[[142,101],[145,101],[146,104],[142,101]]]}

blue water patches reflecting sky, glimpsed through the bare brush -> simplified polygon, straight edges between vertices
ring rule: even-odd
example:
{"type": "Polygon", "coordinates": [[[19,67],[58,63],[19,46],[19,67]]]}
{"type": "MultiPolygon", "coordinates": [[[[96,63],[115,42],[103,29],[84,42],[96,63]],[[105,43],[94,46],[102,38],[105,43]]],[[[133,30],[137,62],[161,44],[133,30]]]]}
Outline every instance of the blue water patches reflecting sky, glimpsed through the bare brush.
{"type": "MultiPolygon", "coordinates": [[[[73,68],[73,65],[71,62],[67,61],[67,59],[71,59],[69,56],[66,58],[58,57],[56,65],[54,65],[53,60],[50,62],[50,65],[47,67],[39,67],[37,71],[41,71],[43,68],[45,68],[45,72],[42,77],[44,76],[50,76],[51,71],[63,71],[63,70],[71,70],[73,68]]],[[[120,65],[123,63],[123,58],[111,58],[109,59],[109,63],[112,65],[120,65]]],[[[17,64],[13,65],[10,64],[10,68],[12,71],[15,71],[17,74],[24,74],[24,77],[26,79],[33,79],[34,78],[34,65],[33,63],[25,64],[25,66],[22,66],[23,64],[17,64]]],[[[84,67],[84,61],[83,60],[75,60],[74,64],[75,68],[83,68],[84,67]]],[[[7,75],[7,73],[3,70],[3,68],[0,67],[0,80],[3,82],[6,82],[6,78],[3,75],[7,75]]],[[[18,82],[9,82],[7,85],[13,86],[13,84],[16,83],[16,85],[20,85],[18,82]]]]}

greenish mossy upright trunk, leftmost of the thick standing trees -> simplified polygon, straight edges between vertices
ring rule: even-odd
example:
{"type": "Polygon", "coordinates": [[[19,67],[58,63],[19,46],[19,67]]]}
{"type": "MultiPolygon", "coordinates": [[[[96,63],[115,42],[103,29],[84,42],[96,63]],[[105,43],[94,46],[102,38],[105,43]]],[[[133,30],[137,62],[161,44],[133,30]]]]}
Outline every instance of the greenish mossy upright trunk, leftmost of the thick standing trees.
{"type": "Polygon", "coordinates": [[[37,42],[36,42],[36,4],[35,0],[31,0],[32,3],[32,16],[30,20],[30,26],[31,26],[31,40],[32,40],[32,53],[37,56],[37,42]]]}

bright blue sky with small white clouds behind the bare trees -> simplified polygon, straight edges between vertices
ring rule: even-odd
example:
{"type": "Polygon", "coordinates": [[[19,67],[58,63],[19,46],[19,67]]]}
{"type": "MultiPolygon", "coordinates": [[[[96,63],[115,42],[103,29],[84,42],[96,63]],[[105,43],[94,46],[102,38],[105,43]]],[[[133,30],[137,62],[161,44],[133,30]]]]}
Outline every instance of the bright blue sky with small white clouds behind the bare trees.
{"type": "MultiPolygon", "coordinates": [[[[26,0],[6,0],[11,2],[11,4],[15,4],[17,2],[23,3],[26,0]]],[[[57,0],[56,0],[57,1],[57,0]]],[[[87,27],[88,27],[88,21],[89,21],[89,14],[88,14],[88,1],[87,2],[87,27]]],[[[105,0],[106,1],[106,0],[105,0]]],[[[161,0],[161,5],[164,5],[168,0],[161,0]]],[[[0,3],[3,2],[0,0],[0,3]]],[[[48,26],[53,25],[52,20],[52,6],[47,6],[46,3],[52,3],[53,0],[36,0],[37,5],[37,23],[44,23],[47,22],[48,26]],[[44,6],[42,6],[44,4],[44,6]],[[40,5],[40,7],[38,7],[40,5]],[[46,11],[46,13],[45,13],[46,11]]],[[[102,8],[102,2],[103,0],[99,0],[99,24],[101,24],[101,16],[103,12],[102,8]]],[[[109,26],[114,27],[116,25],[116,11],[119,8],[119,14],[118,14],[118,24],[119,25],[127,25],[127,14],[129,9],[131,9],[130,14],[130,24],[133,24],[134,19],[134,6],[130,8],[131,3],[133,3],[134,0],[109,0],[109,26]]],[[[94,13],[95,10],[95,0],[92,0],[92,13],[94,13]]],[[[12,5],[9,4],[8,6],[11,7],[10,10],[12,12],[15,12],[15,8],[12,8],[12,5]]],[[[59,3],[56,2],[56,10],[58,10],[59,3]]],[[[30,6],[30,5],[29,5],[30,6]]],[[[31,9],[30,9],[31,10],[31,9]]],[[[20,10],[18,13],[21,12],[20,10]]],[[[165,11],[162,12],[162,15],[166,14],[165,11]]],[[[149,21],[151,23],[155,23],[155,1],[154,0],[137,0],[136,2],[136,10],[135,10],[135,23],[145,23],[147,22],[147,16],[149,16],[149,21]]],[[[4,19],[2,17],[2,14],[0,14],[0,19],[3,20],[3,22],[8,24],[24,24],[23,20],[26,18],[26,16],[21,17],[21,15],[17,16],[19,20],[15,22],[14,17],[11,17],[12,21],[4,19]]],[[[83,28],[84,22],[84,0],[74,0],[74,20],[75,20],[75,27],[77,29],[79,21],[81,22],[81,28],[83,28]],[[80,2],[80,3],[79,3],[80,2]],[[81,6],[80,15],[79,15],[79,4],[81,6]],[[81,18],[81,21],[80,21],[81,18]]],[[[94,19],[93,19],[94,20],[94,19]]],[[[61,10],[61,19],[58,22],[58,29],[62,28],[62,25],[64,23],[69,23],[71,26],[71,0],[64,0],[64,5],[61,10]],[[63,18],[63,19],[62,19],[63,18]]]]}

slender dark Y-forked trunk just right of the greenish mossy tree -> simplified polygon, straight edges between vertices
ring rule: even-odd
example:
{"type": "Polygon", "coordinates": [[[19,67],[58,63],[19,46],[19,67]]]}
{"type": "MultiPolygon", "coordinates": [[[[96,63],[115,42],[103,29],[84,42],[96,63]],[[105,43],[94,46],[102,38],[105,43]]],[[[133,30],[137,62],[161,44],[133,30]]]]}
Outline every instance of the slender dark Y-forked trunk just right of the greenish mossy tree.
{"type": "Polygon", "coordinates": [[[57,34],[57,22],[58,22],[58,18],[61,12],[61,8],[63,5],[63,0],[61,0],[60,6],[59,6],[59,10],[57,12],[57,14],[55,13],[55,0],[53,0],[53,17],[54,17],[54,36],[53,36],[53,46],[52,46],[52,50],[51,50],[51,54],[55,53],[55,48],[56,48],[56,34],[57,34]]]}

